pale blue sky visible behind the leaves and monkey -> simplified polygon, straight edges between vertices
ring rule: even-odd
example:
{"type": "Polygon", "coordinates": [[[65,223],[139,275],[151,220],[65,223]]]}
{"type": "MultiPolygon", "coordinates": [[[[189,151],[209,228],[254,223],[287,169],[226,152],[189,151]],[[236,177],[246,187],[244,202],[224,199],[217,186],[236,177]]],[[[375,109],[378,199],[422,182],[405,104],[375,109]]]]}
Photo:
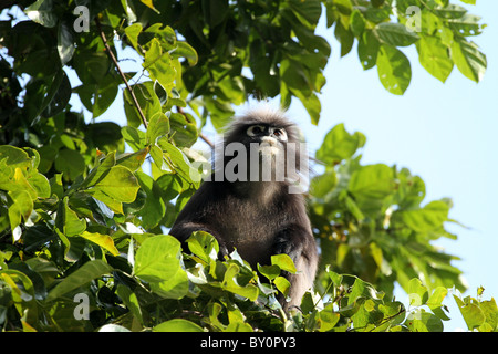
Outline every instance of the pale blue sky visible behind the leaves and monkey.
{"type": "MultiPolygon", "coordinates": [[[[452,198],[454,208],[449,217],[470,229],[448,225],[447,229],[456,233],[458,240],[440,239],[434,244],[461,258],[453,264],[464,271],[469,284],[465,295],[476,296],[477,288],[483,285],[486,289],[483,298],[489,300],[498,296],[498,226],[495,225],[498,220],[498,1],[477,0],[475,7],[460,4],[488,24],[483,34],[473,39],[488,60],[488,70],[479,84],[466,79],[457,67],[446,84],[440,83],[422,67],[412,45],[401,49],[411,61],[412,82],[403,96],[395,96],[382,86],[376,67],[363,71],[356,46],[345,58],[339,58],[340,45],[333,30],[321,21],[318,33],[332,46],[324,71],[326,85],[320,96],[321,121],[318,126],[312,125],[295,98],[288,115],[303,129],[312,154],[334,125],[344,123],[350,133],[360,131],[366,136],[363,164],[407,167],[425,181],[424,204],[452,198]]],[[[126,71],[127,62],[122,63],[126,71]]],[[[70,80],[73,87],[79,84],[73,73],[70,80]]],[[[121,97],[120,93],[96,122],[114,121],[124,125],[121,97]]],[[[76,95],[71,104],[75,111],[84,110],[76,95]]],[[[237,112],[246,108],[238,107],[237,112]]],[[[85,116],[90,119],[91,113],[85,112],[85,116]]],[[[214,138],[212,132],[208,127],[205,133],[214,138]]],[[[199,144],[196,146],[201,146],[199,144]]],[[[408,303],[402,290],[396,291],[396,298],[408,303]]],[[[466,330],[450,295],[445,303],[452,317],[444,323],[445,331],[466,330]]]]}

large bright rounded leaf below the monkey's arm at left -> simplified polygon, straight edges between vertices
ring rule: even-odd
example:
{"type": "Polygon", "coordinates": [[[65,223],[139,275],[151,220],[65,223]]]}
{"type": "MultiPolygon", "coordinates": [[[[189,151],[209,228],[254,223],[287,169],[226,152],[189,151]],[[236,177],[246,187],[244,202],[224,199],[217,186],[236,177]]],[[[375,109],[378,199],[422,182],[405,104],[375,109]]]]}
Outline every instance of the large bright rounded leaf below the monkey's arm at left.
{"type": "Polygon", "coordinates": [[[188,292],[188,278],[180,264],[180,242],[169,235],[157,235],[142,242],[133,272],[167,299],[181,299],[188,292]]]}

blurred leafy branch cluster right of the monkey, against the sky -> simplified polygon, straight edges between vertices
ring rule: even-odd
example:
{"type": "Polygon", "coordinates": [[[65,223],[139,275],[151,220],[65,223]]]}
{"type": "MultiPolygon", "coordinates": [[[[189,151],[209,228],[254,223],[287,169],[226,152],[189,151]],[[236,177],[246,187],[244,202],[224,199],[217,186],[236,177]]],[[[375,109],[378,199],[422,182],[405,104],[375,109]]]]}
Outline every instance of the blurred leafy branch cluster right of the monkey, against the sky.
{"type": "Polygon", "coordinates": [[[356,274],[392,294],[397,282],[406,292],[413,278],[429,289],[465,290],[457,257],[432,244],[442,237],[456,239],[445,223],[448,198],[425,201],[425,184],[407,168],[362,165],[365,136],[333,127],[317,150],[325,163],[311,180],[310,217],[320,241],[322,269],[356,274]]]}

